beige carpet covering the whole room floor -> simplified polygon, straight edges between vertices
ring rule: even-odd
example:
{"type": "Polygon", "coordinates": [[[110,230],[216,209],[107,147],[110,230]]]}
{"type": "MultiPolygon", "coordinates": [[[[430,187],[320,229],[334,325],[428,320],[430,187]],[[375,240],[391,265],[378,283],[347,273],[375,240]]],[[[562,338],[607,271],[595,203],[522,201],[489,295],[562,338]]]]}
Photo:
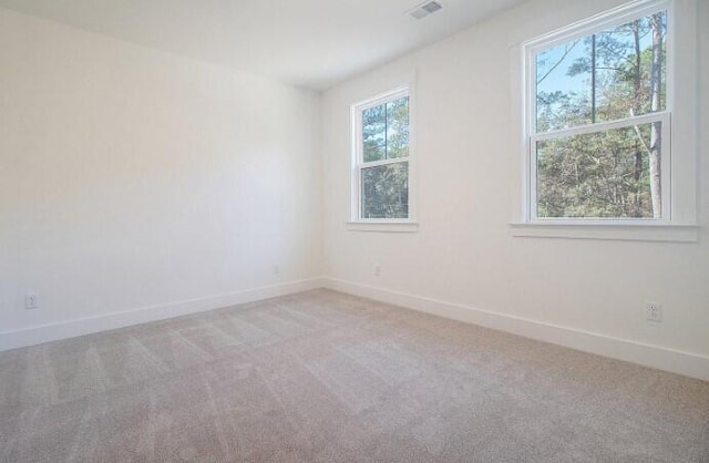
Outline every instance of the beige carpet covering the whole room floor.
{"type": "Polygon", "coordinates": [[[709,383],[317,290],[0,353],[0,461],[709,462],[709,383]]]}

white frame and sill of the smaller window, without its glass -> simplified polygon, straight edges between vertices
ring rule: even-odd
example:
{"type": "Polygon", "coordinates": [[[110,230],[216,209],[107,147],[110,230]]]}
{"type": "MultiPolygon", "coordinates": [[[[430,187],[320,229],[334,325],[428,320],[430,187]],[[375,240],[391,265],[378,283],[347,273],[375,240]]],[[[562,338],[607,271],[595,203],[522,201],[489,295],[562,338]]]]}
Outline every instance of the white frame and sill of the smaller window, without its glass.
{"type": "Polygon", "coordinates": [[[358,232],[415,232],[418,228],[415,215],[415,160],[414,160],[414,95],[413,86],[405,84],[397,86],[371,99],[351,105],[351,140],[352,140],[352,169],[351,169],[351,217],[348,228],[358,232]],[[409,155],[391,160],[364,162],[362,144],[362,113],[370,107],[386,104],[390,101],[409,97],[409,155]],[[361,173],[363,168],[377,167],[389,164],[408,164],[409,187],[409,216],[407,218],[362,218],[361,173]]]}

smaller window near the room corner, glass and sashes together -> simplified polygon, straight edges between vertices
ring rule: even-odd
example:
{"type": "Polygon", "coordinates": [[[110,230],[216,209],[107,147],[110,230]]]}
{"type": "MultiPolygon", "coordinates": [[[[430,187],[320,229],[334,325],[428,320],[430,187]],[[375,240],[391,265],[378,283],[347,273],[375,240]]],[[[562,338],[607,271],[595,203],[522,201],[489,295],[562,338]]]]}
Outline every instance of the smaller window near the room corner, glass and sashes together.
{"type": "Polygon", "coordinates": [[[409,88],[352,106],[352,220],[411,222],[409,88]]]}

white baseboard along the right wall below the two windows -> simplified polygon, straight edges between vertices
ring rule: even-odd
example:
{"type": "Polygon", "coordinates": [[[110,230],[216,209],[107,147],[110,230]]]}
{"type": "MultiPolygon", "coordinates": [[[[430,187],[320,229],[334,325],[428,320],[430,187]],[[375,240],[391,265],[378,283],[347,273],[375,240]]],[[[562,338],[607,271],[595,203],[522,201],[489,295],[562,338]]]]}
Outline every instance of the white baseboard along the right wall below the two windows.
{"type": "Polygon", "coordinates": [[[323,278],[322,281],[328,289],[709,381],[709,357],[706,356],[613,338],[575,328],[544,323],[532,319],[475,309],[336,278],[323,278]]]}

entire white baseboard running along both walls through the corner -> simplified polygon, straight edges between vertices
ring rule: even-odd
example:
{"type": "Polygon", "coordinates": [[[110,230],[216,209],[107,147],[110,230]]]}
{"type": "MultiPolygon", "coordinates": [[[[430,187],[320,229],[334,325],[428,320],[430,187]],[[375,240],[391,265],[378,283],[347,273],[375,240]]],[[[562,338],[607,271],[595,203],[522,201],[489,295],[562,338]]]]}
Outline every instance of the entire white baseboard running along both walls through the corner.
{"type": "Polygon", "coordinates": [[[544,323],[522,317],[475,309],[459,303],[360,285],[336,278],[310,278],[246,289],[220,296],[143,307],[130,311],[4,331],[0,332],[0,351],[74,338],[132,325],[164,320],[317,288],[333,289],[453,320],[479,325],[540,341],[552,342],[585,352],[709,381],[709,357],[707,356],[646,344],[627,339],[613,338],[575,328],[544,323]]]}

